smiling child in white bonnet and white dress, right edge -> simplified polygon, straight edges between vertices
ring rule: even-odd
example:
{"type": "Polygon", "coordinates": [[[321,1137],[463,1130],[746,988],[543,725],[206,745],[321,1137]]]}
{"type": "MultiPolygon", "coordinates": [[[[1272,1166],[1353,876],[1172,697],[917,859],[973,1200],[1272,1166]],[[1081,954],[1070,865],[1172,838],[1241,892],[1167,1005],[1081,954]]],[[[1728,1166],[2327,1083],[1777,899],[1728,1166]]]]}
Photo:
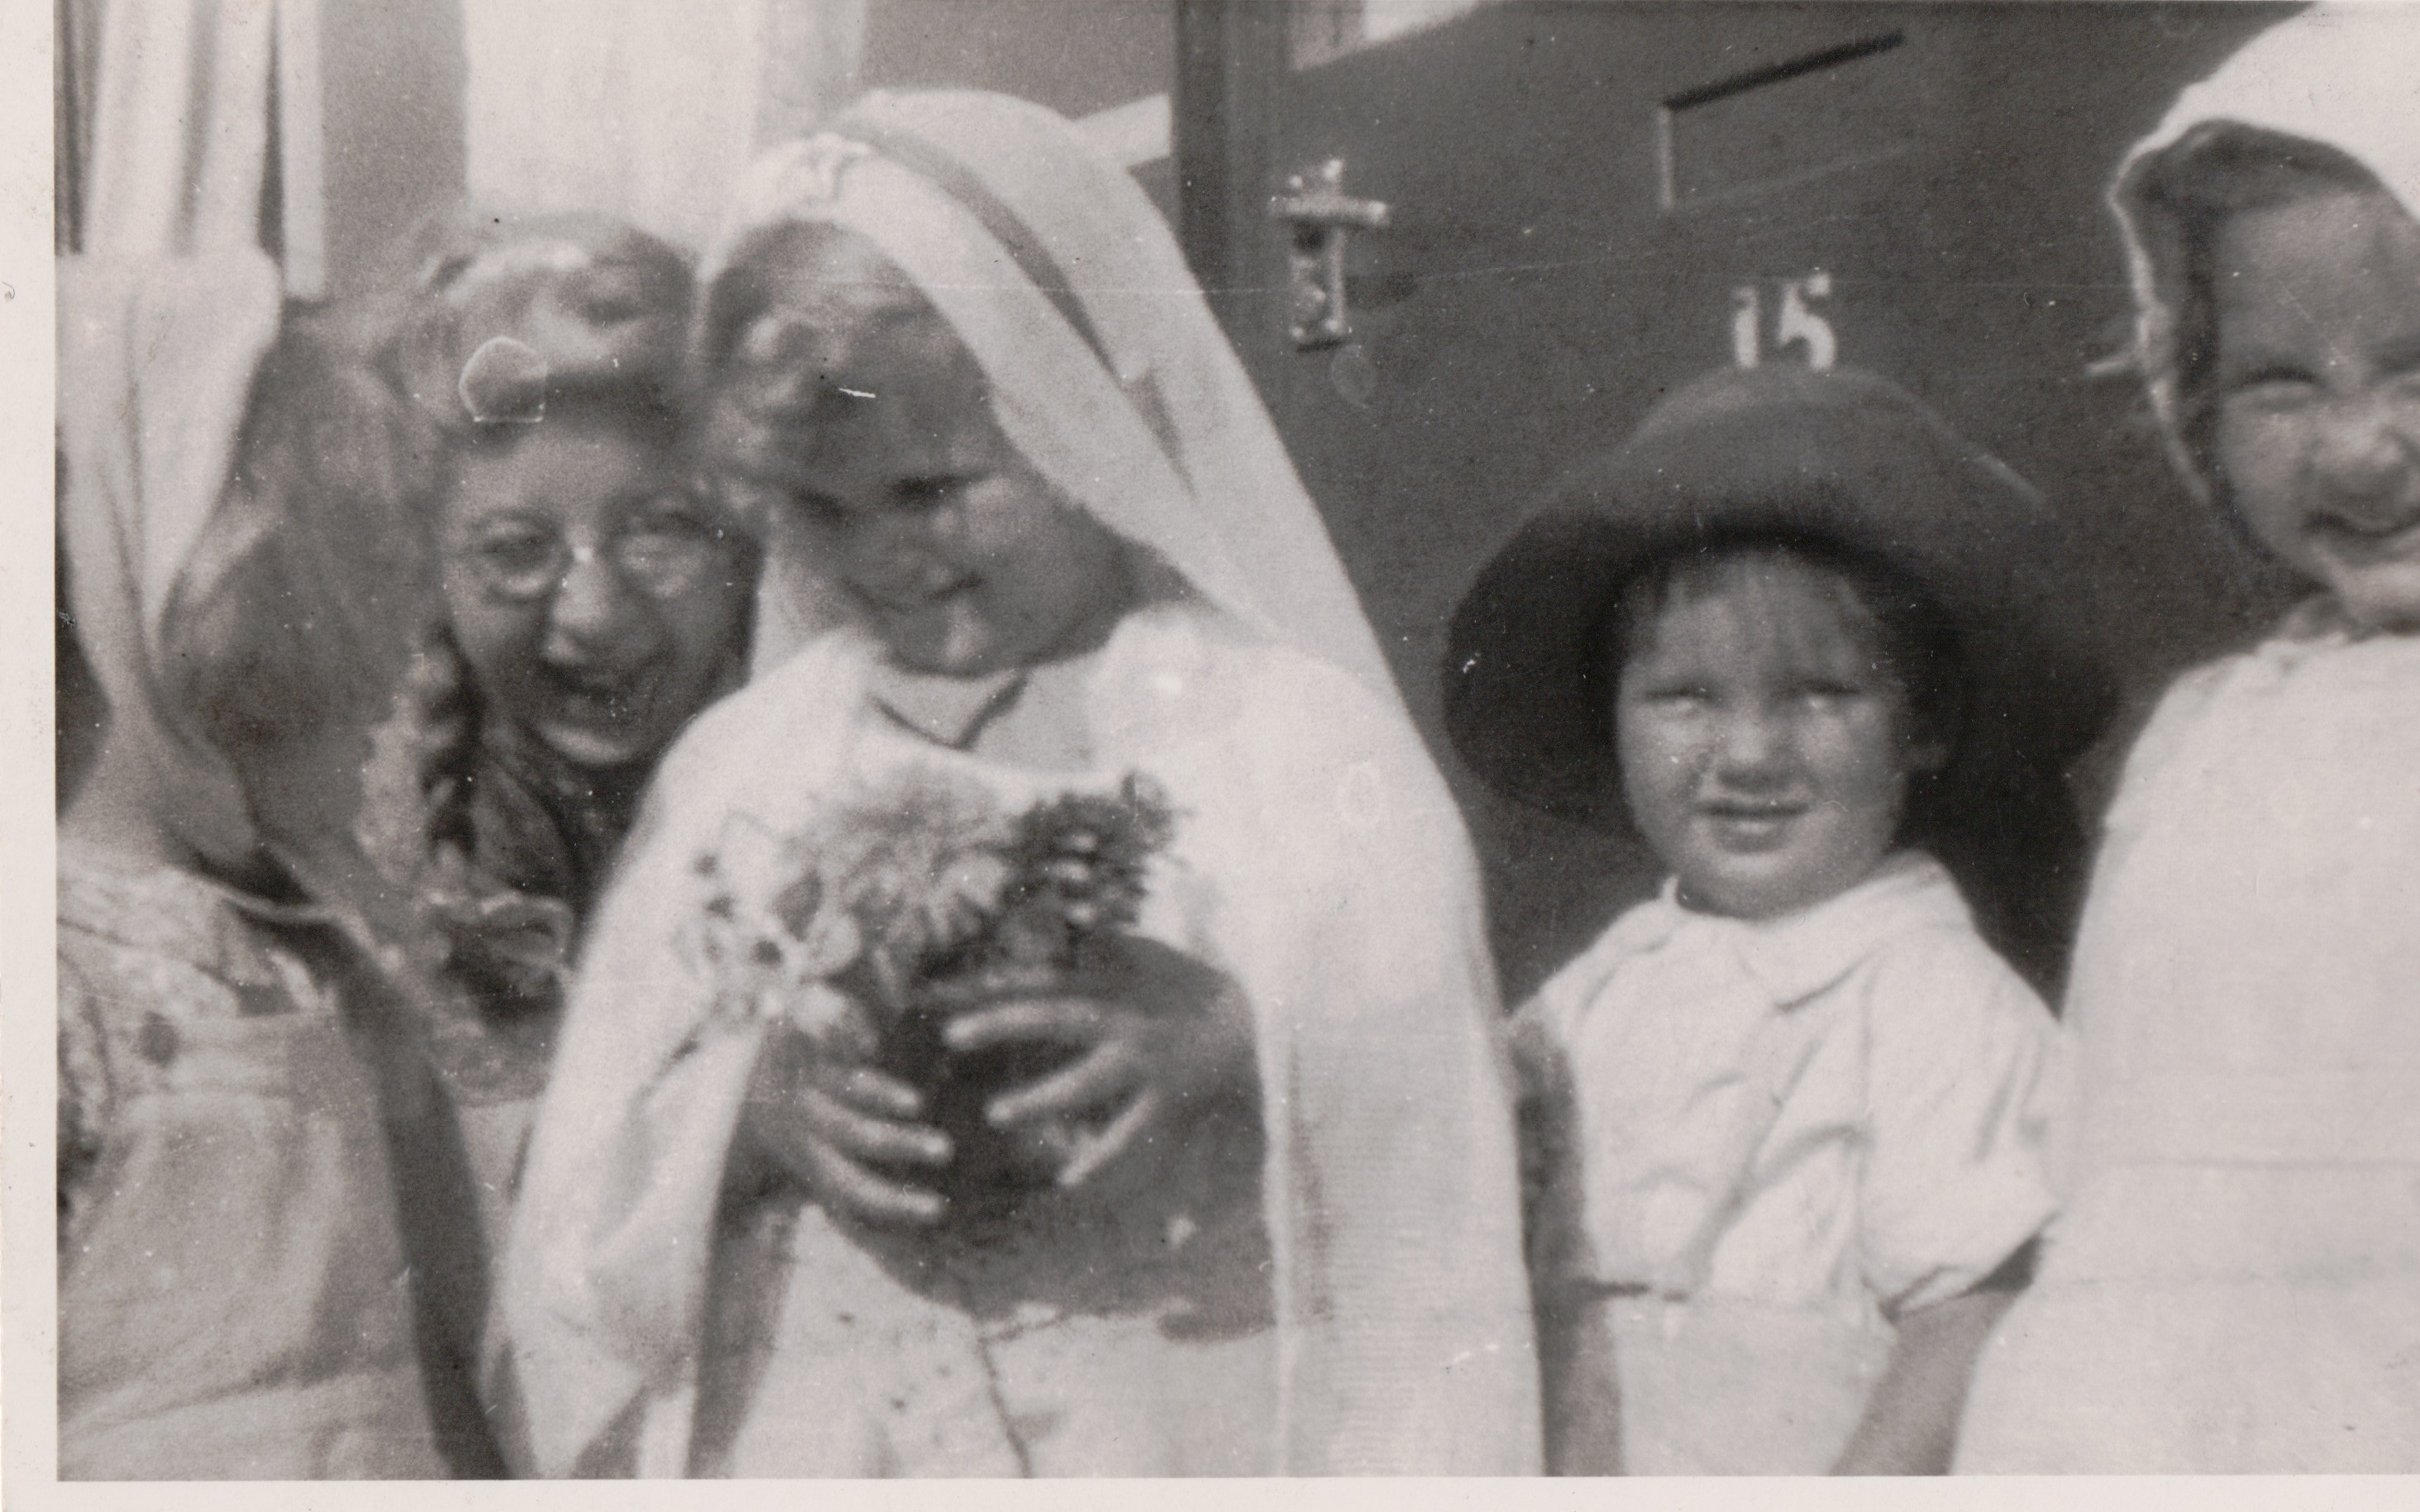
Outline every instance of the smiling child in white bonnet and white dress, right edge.
{"type": "Polygon", "coordinates": [[[2420,1471],[2415,80],[2408,15],[2304,12],[2110,191],[2171,457],[2314,598],[2127,760],[2062,1217],[1960,1471],[2420,1471]]]}

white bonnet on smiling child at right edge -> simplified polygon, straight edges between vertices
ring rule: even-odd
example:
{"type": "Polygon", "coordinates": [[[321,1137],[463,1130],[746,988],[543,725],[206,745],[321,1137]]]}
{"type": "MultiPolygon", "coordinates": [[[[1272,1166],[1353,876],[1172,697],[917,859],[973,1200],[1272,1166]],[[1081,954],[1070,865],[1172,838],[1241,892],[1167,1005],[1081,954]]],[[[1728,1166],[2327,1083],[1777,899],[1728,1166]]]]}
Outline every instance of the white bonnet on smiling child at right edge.
{"type": "Polygon", "coordinates": [[[2176,409],[2176,319],[2185,276],[2183,227],[2147,189],[2151,167],[2195,126],[2231,121],[2326,143],[2420,215],[2420,24],[2403,5],[2321,5],[2263,31],[2176,97],[2159,131],[2134,143],[2110,208],[2134,281],[2134,358],[2151,389],[2168,455],[2205,503],[2209,479],[2185,448],[2176,409]]]}

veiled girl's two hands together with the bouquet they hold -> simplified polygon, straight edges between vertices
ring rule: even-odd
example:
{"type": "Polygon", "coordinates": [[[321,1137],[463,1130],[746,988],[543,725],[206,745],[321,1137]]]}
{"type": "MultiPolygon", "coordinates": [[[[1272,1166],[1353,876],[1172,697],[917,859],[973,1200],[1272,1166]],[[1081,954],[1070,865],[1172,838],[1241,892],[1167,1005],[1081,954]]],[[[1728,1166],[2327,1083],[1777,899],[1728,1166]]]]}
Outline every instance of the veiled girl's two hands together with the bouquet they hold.
{"type": "Polygon", "coordinates": [[[779,1026],[753,1147],[854,1217],[929,1224],[1077,1185],[1249,1084],[1237,994],[1130,934],[1171,830],[1140,777],[1004,815],[922,769],[789,837],[728,830],[685,943],[702,1033],[779,1026]]]}

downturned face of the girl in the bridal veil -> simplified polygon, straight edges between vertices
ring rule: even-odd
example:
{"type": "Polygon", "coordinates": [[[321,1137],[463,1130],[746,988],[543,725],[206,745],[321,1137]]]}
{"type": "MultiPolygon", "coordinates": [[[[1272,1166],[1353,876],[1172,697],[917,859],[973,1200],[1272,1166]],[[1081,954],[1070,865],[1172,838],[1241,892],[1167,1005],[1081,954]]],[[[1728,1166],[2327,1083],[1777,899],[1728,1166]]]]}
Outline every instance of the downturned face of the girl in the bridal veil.
{"type": "Polygon", "coordinates": [[[1133,598],[1120,539],[1002,435],[939,314],[886,322],[842,365],[782,481],[808,549],[895,663],[980,677],[1116,622],[1133,598]]]}

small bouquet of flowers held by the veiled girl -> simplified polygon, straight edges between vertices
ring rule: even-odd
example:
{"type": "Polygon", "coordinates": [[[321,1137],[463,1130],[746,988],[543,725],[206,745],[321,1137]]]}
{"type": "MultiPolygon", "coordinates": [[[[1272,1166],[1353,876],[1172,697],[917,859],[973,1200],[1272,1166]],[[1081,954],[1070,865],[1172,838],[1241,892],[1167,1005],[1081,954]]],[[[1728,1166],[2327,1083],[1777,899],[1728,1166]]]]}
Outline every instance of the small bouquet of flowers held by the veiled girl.
{"type": "Polygon", "coordinates": [[[1024,813],[929,767],[842,796],[806,827],[726,825],[697,856],[704,902],[682,929],[714,987],[716,1023],[789,1023],[847,1045],[927,1093],[956,1156],[944,1195],[973,1210],[1033,1168],[992,1130],[985,1103],[1067,1060],[1060,1045],[953,1057],[929,987],[997,965],[1082,968],[1133,929],[1176,815],[1130,772],[1113,793],[1070,791],[1024,813]]]}

